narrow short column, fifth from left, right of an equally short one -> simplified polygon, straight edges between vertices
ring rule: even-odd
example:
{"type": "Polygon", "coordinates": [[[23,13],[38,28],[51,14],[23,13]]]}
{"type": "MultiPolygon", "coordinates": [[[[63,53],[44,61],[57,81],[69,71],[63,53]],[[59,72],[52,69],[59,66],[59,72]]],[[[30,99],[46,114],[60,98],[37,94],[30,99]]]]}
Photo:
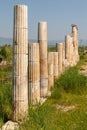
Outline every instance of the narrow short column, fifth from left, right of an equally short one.
{"type": "Polygon", "coordinates": [[[58,52],[54,52],[54,80],[58,78],[58,52]]]}

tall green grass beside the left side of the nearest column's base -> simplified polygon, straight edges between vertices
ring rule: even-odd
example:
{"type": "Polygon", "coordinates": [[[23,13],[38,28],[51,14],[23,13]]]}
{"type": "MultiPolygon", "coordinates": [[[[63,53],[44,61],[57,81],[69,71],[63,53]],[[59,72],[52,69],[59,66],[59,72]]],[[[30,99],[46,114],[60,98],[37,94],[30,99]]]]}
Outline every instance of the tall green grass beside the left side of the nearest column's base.
{"type": "Polygon", "coordinates": [[[0,82],[0,118],[6,122],[12,112],[12,83],[0,82]]]}

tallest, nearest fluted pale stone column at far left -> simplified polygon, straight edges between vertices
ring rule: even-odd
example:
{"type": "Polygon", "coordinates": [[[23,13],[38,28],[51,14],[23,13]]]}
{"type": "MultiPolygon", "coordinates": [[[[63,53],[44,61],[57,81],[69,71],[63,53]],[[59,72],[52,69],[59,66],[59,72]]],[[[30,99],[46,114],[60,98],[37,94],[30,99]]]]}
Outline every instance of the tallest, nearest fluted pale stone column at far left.
{"type": "Polygon", "coordinates": [[[27,6],[14,7],[13,34],[13,120],[28,112],[28,17],[27,6]]]}

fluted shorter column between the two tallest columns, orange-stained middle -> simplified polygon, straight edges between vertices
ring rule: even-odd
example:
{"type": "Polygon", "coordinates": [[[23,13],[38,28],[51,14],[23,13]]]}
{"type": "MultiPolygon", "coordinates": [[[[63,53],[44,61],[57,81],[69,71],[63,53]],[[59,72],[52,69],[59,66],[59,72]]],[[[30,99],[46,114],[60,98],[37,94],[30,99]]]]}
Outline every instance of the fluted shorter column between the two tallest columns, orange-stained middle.
{"type": "Polygon", "coordinates": [[[40,101],[39,43],[29,45],[29,104],[40,101]]]}

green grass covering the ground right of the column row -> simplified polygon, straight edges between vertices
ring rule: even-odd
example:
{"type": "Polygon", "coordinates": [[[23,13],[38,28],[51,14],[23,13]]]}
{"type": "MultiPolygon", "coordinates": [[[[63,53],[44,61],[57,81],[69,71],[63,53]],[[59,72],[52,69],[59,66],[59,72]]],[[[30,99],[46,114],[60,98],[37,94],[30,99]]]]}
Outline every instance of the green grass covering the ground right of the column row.
{"type": "Polygon", "coordinates": [[[20,130],[87,130],[87,77],[70,68],[56,80],[51,97],[31,107],[28,116],[20,130]],[[75,108],[64,112],[57,105],[75,108]]]}

